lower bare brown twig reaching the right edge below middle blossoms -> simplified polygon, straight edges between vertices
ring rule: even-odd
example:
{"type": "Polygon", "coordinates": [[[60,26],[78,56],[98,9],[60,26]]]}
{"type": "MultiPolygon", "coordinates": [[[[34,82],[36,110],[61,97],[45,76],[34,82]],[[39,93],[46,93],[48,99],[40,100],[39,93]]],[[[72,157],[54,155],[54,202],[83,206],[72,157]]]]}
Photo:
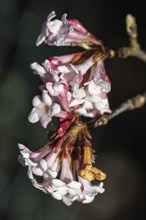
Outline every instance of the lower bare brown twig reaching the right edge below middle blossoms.
{"type": "Polygon", "coordinates": [[[101,117],[90,121],[87,125],[88,128],[96,128],[99,126],[106,125],[109,120],[113,119],[114,117],[120,115],[121,113],[134,110],[137,108],[141,108],[146,103],[146,92],[142,95],[137,95],[131,99],[128,99],[126,102],[122,103],[118,108],[112,111],[109,115],[102,115],[101,117]]]}

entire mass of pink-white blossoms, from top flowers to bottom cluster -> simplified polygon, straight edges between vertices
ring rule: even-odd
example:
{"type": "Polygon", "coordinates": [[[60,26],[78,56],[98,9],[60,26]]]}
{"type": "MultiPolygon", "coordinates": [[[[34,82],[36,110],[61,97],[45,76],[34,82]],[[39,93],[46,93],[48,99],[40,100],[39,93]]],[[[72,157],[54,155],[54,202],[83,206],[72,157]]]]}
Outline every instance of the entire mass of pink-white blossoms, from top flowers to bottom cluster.
{"type": "Polygon", "coordinates": [[[57,117],[60,125],[49,142],[36,152],[19,144],[19,161],[28,166],[28,177],[34,187],[71,205],[93,201],[103,193],[103,183],[94,186],[93,180],[104,180],[106,174],[93,167],[94,150],[86,123],[80,116],[97,118],[110,113],[107,93],[110,81],[104,68],[102,43],[75,20],[55,19],[55,12],[47,17],[36,45],[45,42],[54,46],[80,46],[86,51],[53,56],[31,69],[42,80],[41,96],[35,96],[28,116],[31,123],[40,121],[47,128],[57,117]],[[42,177],[42,181],[37,180],[42,177]]]}

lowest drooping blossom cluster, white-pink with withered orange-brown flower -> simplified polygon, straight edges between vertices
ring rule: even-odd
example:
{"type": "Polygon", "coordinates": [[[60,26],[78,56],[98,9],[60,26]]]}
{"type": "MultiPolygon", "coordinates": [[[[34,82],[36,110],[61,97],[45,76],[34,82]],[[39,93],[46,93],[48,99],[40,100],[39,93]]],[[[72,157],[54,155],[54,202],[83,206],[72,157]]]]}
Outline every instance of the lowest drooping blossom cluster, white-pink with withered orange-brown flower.
{"type": "Polygon", "coordinates": [[[90,164],[94,176],[92,180],[103,180],[106,177],[102,171],[92,167],[94,154],[91,146],[87,147],[87,144],[90,145],[87,140],[89,137],[87,128],[82,123],[80,126],[72,125],[62,137],[58,137],[56,133],[36,152],[19,144],[19,161],[28,167],[27,174],[33,186],[62,200],[66,205],[71,205],[74,201],[90,203],[98,193],[103,193],[102,182],[92,186],[90,175],[83,175],[83,170],[87,170],[87,164],[90,164]],[[81,136],[83,139],[78,145],[78,138],[81,136]],[[41,176],[43,180],[38,181],[37,176],[41,176]]]}

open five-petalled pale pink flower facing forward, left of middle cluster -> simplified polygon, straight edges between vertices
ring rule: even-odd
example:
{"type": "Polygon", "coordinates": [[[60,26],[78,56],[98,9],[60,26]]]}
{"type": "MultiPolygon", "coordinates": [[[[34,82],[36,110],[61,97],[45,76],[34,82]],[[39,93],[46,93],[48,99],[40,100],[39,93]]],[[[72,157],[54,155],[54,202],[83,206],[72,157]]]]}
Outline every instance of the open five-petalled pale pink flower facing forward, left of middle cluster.
{"type": "Polygon", "coordinates": [[[46,128],[53,116],[61,112],[59,104],[52,101],[46,90],[43,90],[42,98],[35,96],[33,99],[34,108],[28,116],[31,123],[40,121],[41,125],[46,128]]]}

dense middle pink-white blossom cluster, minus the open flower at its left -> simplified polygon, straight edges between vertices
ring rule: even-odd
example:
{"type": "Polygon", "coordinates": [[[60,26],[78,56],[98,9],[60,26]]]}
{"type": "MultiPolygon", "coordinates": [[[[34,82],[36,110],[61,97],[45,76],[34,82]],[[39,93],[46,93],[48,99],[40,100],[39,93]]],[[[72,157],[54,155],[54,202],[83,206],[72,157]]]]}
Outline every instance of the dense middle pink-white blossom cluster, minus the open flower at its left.
{"type": "Polygon", "coordinates": [[[43,78],[49,95],[63,109],[58,117],[65,117],[64,111],[77,112],[85,117],[111,112],[107,98],[111,87],[103,61],[94,63],[92,55],[80,64],[74,64],[74,59],[80,60],[82,56],[84,53],[70,54],[52,57],[42,66],[32,64],[43,78]]]}

